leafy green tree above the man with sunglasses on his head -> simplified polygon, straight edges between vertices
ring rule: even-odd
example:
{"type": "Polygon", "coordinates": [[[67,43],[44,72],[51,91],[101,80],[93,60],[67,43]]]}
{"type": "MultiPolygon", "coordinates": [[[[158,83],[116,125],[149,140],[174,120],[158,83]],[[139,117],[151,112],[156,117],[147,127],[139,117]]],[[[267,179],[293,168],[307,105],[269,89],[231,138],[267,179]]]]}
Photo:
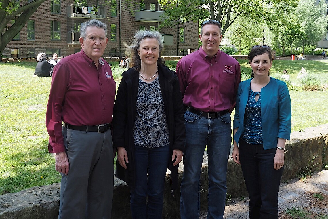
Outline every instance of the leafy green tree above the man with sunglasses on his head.
{"type": "Polygon", "coordinates": [[[222,24],[222,34],[238,16],[257,22],[280,23],[284,11],[296,8],[296,0],[158,0],[167,17],[162,26],[173,27],[186,21],[212,19],[222,24]]]}

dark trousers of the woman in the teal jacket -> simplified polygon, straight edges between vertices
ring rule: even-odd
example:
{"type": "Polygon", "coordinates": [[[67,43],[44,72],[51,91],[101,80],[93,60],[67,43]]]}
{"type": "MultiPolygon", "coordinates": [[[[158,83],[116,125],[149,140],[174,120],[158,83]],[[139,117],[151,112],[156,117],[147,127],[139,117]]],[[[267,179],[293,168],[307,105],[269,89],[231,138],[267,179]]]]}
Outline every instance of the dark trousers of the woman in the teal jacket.
{"type": "Polygon", "coordinates": [[[249,193],[250,219],[278,218],[278,191],[284,167],[274,169],[277,148],[239,140],[239,159],[249,193]]]}

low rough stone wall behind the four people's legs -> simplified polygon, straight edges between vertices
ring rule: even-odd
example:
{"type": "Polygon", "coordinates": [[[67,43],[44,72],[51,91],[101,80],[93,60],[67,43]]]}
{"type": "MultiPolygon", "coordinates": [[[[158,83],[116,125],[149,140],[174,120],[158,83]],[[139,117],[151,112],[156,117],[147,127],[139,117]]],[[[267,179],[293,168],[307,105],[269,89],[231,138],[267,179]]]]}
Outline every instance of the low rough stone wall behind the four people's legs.
{"type": "MultiPolygon", "coordinates": [[[[304,132],[294,131],[291,141],[286,142],[285,169],[282,181],[296,178],[301,171],[322,169],[328,163],[328,124],[306,128],[304,132]],[[313,162],[312,162],[313,160],[313,162]],[[315,165],[316,164],[316,165],[315,165]]],[[[232,152],[232,151],[231,151],[232,152]]],[[[207,206],[207,153],[201,172],[201,208],[207,206]]],[[[181,184],[183,164],[178,172],[178,183],[181,184]]],[[[60,185],[34,187],[17,193],[0,196],[0,219],[54,219],[58,217],[60,185]]],[[[229,159],[227,174],[228,194],[238,197],[247,196],[240,165],[229,159]]],[[[127,185],[114,178],[113,219],[131,218],[130,190],[127,185]]],[[[163,218],[175,219],[179,217],[180,192],[171,196],[169,175],[165,181],[163,218]]]]}

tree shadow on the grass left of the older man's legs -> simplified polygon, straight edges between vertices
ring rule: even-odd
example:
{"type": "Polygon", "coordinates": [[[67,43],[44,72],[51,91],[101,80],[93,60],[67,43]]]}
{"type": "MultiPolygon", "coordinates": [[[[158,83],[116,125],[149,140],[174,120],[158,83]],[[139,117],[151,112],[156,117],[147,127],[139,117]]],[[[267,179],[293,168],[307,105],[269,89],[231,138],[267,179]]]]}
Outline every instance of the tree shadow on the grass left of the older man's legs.
{"type": "Polygon", "coordinates": [[[48,152],[48,140],[40,140],[37,147],[31,150],[3,157],[10,167],[1,174],[0,194],[60,182],[61,176],[55,171],[53,155],[48,152]]]}

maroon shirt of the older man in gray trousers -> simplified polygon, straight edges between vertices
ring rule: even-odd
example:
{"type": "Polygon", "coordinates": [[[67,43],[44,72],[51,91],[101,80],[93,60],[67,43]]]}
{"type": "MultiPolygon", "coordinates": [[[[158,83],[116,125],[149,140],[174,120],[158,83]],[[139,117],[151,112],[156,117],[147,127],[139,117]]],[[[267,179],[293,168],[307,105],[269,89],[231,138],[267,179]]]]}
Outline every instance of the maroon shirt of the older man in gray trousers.
{"type": "Polygon", "coordinates": [[[83,50],[64,57],[54,67],[46,114],[49,152],[65,151],[62,122],[75,126],[111,123],[116,84],[108,63],[98,69],[83,50]]]}

